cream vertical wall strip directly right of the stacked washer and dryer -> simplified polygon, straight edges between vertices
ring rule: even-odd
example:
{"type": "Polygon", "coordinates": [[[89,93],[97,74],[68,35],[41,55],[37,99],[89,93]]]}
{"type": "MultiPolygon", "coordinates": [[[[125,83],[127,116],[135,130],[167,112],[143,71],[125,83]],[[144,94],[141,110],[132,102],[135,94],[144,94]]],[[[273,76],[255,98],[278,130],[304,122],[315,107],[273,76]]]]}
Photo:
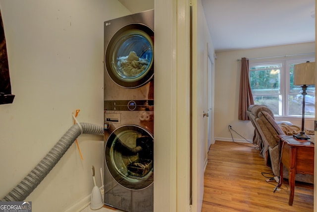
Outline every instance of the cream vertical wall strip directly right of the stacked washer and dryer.
{"type": "Polygon", "coordinates": [[[154,8],[154,164],[159,170],[154,172],[154,209],[176,212],[176,1],[155,0],[154,8]]]}

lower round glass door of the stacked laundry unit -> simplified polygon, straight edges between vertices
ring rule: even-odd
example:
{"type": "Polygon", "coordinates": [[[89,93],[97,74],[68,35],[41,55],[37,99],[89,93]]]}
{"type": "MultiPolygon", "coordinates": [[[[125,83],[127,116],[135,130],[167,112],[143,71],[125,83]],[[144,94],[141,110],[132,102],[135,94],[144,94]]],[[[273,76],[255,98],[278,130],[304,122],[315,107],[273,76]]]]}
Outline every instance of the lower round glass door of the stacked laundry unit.
{"type": "Polygon", "coordinates": [[[106,141],[106,166],[113,179],[131,190],[147,188],[153,183],[152,134],[136,125],[114,130],[106,141]]]}

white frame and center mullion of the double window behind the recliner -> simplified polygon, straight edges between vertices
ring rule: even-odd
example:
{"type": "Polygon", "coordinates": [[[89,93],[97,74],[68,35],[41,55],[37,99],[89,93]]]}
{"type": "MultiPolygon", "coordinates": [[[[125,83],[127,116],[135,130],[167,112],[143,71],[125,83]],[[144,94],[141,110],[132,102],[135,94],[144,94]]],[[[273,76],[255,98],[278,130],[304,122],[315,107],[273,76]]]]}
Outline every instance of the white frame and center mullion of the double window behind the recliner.
{"type": "MultiPolygon", "coordinates": [[[[280,67],[280,93],[279,93],[279,114],[275,117],[287,117],[287,118],[301,118],[301,116],[289,116],[288,115],[288,95],[290,93],[290,64],[306,63],[307,61],[315,62],[315,56],[299,56],[299,57],[284,57],[276,59],[261,59],[249,60],[249,71],[254,66],[267,66],[279,64],[280,67]]],[[[315,111],[316,113],[316,111],[315,111]]],[[[314,116],[307,116],[308,118],[314,118],[314,116]]]]}

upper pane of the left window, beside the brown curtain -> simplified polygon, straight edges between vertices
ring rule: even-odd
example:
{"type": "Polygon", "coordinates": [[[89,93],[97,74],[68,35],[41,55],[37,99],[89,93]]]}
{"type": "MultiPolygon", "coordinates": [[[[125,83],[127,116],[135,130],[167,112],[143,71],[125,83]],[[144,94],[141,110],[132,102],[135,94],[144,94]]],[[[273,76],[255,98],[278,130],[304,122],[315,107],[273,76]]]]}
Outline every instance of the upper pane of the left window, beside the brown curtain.
{"type": "Polygon", "coordinates": [[[253,94],[279,94],[280,65],[250,68],[250,85],[253,94]]]}

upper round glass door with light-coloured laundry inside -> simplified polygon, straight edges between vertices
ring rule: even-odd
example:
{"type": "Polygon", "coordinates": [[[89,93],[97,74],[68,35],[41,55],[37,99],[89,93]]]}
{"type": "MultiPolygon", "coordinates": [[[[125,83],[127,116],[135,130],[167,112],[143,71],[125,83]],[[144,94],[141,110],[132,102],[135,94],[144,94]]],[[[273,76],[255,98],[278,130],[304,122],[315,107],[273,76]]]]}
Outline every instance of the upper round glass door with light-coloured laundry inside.
{"type": "Polygon", "coordinates": [[[140,87],[153,75],[154,32],[143,24],[130,24],[110,39],[105,66],[110,78],[125,88],[140,87]]]}

